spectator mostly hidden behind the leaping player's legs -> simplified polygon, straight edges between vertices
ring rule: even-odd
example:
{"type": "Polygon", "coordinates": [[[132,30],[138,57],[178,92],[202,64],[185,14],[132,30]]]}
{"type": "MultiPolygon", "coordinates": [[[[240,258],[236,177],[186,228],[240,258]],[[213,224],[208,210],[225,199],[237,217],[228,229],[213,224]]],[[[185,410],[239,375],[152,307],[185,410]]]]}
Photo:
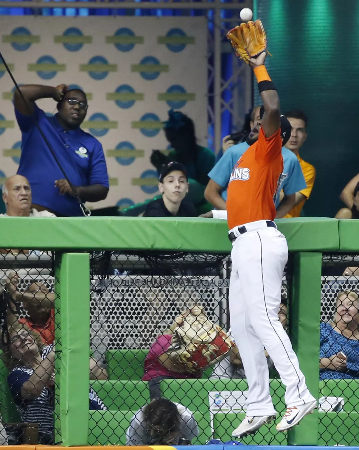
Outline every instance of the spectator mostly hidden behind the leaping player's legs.
{"type": "MultiPolygon", "coordinates": [[[[287,300],[284,296],[282,296],[282,301],[278,311],[278,318],[285,330],[287,329],[288,324],[287,313],[287,300]]],[[[231,333],[231,330],[229,330],[229,333],[231,333]]],[[[268,369],[272,369],[274,366],[273,361],[265,350],[264,352],[268,362],[268,369]]],[[[234,347],[222,361],[214,366],[213,374],[209,378],[246,378],[241,361],[241,355],[239,354],[237,346],[234,347]]]]}

